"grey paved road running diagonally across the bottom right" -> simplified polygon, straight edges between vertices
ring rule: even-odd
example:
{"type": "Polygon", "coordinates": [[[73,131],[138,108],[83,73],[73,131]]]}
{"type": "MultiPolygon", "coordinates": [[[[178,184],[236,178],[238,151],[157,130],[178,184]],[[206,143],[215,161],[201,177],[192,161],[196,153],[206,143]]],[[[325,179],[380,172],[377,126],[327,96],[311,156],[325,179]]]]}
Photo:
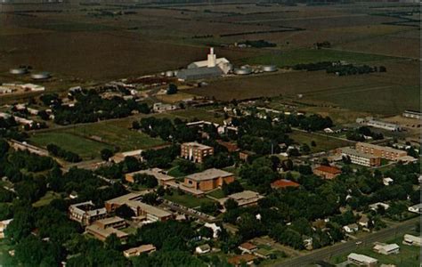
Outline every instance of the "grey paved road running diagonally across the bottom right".
{"type": "Polygon", "coordinates": [[[280,263],[276,266],[278,267],[295,267],[295,266],[306,266],[316,261],[326,260],[333,256],[344,255],[347,253],[352,253],[356,249],[356,242],[361,241],[360,246],[366,246],[375,241],[382,241],[389,238],[394,238],[394,236],[403,234],[406,231],[410,231],[415,227],[415,223],[418,222],[419,218],[414,218],[409,221],[398,223],[397,226],[383,229],[369,234],[360,239],[355,239],[348,241],[346,243],[339,243],[331,247],[324,247],[314,252],[311,252],[307,255],[302,255],[299,257],[292,258],[283,263],[280,263]]]}

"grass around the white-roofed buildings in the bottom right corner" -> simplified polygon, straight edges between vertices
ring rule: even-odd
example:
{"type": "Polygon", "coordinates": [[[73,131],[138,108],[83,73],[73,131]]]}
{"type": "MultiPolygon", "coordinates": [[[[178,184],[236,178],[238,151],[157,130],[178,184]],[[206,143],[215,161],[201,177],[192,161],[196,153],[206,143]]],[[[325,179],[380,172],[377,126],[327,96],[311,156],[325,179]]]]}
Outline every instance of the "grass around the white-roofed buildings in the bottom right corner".
{"type": "MultiPolygon", "coordinates": [[[[413,235],[418,236],[417,233],[411,233],[413,235]]],[[[396,239],[387,240],[385,243],[387,244],[397,244],[400,246],[400,253],[397,255],[381,255],[377,254],[376,252],[372,251],[372,244],[369,247],[361,247],[356,249],[355,253],[368,255],[369,257],[376,258],[378,260],[378,264],[395,264],[396,266],[400,267],[412,267],[412,266],[419,266],[419,247],[412,247],[407,245],[402,245],[402,235],[396,239]]],[[[331,262],[332,263],[343,263],[347,259],[347,255],[340,255],[333,257],[331,262]]]]}

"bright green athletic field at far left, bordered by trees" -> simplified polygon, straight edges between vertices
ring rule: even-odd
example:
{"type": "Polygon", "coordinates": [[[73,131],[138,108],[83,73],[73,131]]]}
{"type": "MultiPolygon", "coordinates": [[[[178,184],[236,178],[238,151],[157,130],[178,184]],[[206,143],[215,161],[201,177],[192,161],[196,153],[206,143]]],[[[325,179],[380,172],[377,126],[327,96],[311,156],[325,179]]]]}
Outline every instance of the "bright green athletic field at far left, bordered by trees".
{"type": "Polygon", "coordinates": [[[30,136],[29,142],[43,148],[45,148],[48,144],[53,143],[64,150],[77,153],[84,159],[99,158],[101,150],[112,149],[112,147],[107,144],[95,142],[93,140],[85,139],[84,137],[62,131],[34,134],[30,136]]]}

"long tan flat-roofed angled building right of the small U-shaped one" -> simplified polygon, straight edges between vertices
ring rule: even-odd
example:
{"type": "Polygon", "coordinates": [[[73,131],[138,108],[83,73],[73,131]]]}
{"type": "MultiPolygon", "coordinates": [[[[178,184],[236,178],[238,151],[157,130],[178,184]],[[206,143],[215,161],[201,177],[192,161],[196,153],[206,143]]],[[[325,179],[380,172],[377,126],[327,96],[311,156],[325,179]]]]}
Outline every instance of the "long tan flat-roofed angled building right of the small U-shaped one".
{"type": "Polygon", "coordinates": [[[148,222],[164,222],[173,218],[173,214],[158,208],[156,206],[150,206],[142,203],[142,196],[148,193],[148,190],[140,193],[129,193],[124,196],[113,198],[105,202],[105,208],[107,212],[112,213],[119,206],[126,205],[132,208],[135,216],[139,219],[145,219],[148,222]]]}

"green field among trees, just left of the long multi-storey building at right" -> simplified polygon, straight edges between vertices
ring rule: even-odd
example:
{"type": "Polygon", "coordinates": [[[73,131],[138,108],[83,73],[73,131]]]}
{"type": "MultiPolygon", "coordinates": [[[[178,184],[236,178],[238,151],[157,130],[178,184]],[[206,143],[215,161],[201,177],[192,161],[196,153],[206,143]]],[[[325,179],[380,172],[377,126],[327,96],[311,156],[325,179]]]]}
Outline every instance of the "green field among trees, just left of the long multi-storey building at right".
{"type": "Polygon", "coordinates": [[[353,144],[353,142],[346,142],[335,138],[331,138],[329,136],[324,137],[319,134],[308,134],[299,131],[293,131],[293,133],[288,134],[288,136],[299,144],[308,144],[311,148],[312,153],[334,150],[340,147],[350,146],[353,144]],[[312,141],[316,143],[315,147],[312,147],[312,141]]]}

